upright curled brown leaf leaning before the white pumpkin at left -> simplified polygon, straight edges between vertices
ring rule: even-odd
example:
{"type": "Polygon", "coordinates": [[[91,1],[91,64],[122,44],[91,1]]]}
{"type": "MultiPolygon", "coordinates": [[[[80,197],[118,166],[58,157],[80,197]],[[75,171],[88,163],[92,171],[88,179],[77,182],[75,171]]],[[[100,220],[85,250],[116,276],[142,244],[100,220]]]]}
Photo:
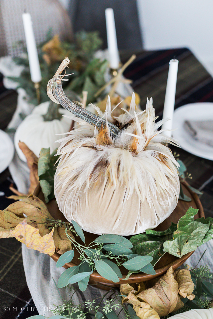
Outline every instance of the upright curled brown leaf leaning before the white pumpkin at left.
{"type": "Polygon", "coordinates": [[[19,148],[22,150],[24,155],[27,158],[27,166],[30,169],[30,187],[28,190],[28,194],[31,194],[34,192],[36,186],[39,184],[39,178],[38,178],[38,158],[32,152],[29,147],[23,142],[19,142],[19,148]]]}

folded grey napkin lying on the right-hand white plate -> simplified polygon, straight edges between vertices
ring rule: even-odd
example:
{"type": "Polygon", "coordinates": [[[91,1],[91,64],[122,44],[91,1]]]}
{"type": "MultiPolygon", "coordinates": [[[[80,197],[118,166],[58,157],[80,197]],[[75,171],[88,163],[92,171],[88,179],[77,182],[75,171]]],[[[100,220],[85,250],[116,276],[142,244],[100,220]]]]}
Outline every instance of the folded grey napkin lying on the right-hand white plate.
{"type": "Polygon", "coordinates": [[[213,120],[185,121],[184,128],[197,141],[213,147],[213,120]]]}

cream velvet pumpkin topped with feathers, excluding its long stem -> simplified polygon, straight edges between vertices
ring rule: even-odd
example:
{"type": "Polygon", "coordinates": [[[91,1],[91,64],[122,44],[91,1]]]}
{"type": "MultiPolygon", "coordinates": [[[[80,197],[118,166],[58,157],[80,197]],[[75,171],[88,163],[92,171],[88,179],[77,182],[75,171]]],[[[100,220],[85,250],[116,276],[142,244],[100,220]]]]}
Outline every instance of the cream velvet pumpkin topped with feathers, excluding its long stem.
{"type": "Polygon", "coordinates": [[[174,141],[159,134],[162,121],[155,123],[152,99],[145,111],[135,112],[133,94],[130,111],[115,118],[110,99],[104,114],[96,110],[105,126],[82,122],[61,139],[55,174],[59,209],[95,234],[127,236],[155,228],[178,203],[179,164],[165,145],[174,141]],[[114,137],[113,123],[120,128],[114,137]]]}

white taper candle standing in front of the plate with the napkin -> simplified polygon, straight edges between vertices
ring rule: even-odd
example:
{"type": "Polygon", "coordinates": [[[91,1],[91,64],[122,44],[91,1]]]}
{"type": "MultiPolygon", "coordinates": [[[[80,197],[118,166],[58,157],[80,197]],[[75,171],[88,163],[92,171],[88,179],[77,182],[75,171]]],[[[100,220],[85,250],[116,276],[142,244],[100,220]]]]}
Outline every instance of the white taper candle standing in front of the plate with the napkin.
{"type": "MultiPolygon", "coordinates": [[[[178,60],[172,59],[169,62],[169,73],[168,73],[168,79],[167,79],[167,85],[166,85],[166,95],[165,95],[164,112],[163,112],[163,119],[169,118],[169,120],[162,125],[162,129],[164,130],[172,130],[177,74],[178,74],[178,60]]],[[[172,132],[165,131],[164,134],[171,136],[172,132]]]]}

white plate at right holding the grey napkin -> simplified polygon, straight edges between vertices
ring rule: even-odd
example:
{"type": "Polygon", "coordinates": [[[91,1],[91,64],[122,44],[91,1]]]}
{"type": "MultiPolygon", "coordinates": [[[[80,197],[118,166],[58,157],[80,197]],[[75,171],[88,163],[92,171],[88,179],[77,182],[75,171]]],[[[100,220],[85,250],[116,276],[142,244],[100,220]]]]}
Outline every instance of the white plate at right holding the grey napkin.
{"type": "Polygon", "coordinates": [[[205,159],[213,160],[213,147],[195,140],[184,128],[188,121],[213,121],[213,103],[191,103],[181,106],[174,111],[172,136],[180,146],[189,153],[205,159]]]}

